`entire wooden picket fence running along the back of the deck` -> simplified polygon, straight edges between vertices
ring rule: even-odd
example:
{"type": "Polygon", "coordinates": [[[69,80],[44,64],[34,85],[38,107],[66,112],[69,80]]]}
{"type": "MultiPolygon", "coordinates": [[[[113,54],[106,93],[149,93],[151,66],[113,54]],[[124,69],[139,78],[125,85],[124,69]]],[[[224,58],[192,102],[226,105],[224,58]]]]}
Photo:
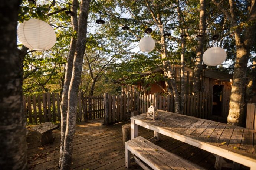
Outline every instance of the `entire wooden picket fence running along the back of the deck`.
{"type": "MultiPolygon", "coordinates": [[[[198,92],[196,95],[184,95],[184,115],[197,118],[210,118],[210,100],[208,93],[198,92]]],[[[42,95],[23,96],[24,114],[27,123],[60,121],[60,95],[58,93],[44,93],[42,95]]],[[[147,112],[153,103],[157,109],[174,112],[173,94],[161,96],[145,95],[139,92],[124,95],[82,96],[78,94],[77,120],[103,118],[105,125],[124,121],[131,117],[131,112],[138,114],[147,112]]]]}

